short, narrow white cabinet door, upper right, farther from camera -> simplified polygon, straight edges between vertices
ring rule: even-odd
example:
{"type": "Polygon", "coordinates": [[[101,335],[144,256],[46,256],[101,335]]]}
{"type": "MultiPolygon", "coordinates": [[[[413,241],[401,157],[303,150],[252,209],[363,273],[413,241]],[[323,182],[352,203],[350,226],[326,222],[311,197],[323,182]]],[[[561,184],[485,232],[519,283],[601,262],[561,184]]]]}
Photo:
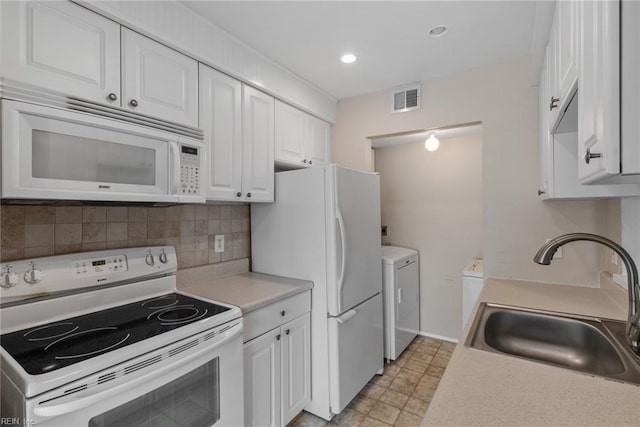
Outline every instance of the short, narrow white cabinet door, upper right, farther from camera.
{"type": "Polygon", "coordinates": [[[557,3],[557,60],[559,104],[566,105],[578,78],[578,2],[562,0],[557,3]]]}

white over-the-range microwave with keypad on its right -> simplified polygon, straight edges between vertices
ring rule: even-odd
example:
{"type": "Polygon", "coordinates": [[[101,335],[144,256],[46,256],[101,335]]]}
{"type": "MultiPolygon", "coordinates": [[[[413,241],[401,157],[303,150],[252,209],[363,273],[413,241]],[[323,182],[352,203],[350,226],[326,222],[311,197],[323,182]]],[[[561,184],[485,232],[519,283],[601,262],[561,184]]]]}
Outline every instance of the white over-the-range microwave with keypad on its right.
{"type": "Polygon", "coordinates": [[[204,203],[204,144],[3,99],[2,199],[204,203]]]}

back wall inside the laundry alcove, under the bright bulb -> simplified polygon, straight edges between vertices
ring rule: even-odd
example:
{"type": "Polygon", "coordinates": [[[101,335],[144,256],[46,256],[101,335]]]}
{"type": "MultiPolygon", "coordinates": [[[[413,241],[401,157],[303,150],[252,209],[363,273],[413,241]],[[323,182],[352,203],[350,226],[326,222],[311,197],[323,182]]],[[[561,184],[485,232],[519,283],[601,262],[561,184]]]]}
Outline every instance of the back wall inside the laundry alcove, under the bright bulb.
{"type": "Polygon", "coordinates": [[[482,257],[482,135],[375,150],[380,172],[383,240],[420,255],[422,330],[458,338],[462,276],[482,257]]]}

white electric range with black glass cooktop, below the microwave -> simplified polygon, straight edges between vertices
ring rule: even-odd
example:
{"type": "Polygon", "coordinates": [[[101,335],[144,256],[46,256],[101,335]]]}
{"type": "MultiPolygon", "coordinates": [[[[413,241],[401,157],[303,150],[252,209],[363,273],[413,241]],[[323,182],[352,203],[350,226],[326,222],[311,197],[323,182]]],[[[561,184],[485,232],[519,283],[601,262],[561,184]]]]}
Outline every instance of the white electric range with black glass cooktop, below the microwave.
{"type": "Polygon", "coordinates": [[[0,269],[3,420],[243,425],[242,314],[177,291],[173,247],[0,269]]]}

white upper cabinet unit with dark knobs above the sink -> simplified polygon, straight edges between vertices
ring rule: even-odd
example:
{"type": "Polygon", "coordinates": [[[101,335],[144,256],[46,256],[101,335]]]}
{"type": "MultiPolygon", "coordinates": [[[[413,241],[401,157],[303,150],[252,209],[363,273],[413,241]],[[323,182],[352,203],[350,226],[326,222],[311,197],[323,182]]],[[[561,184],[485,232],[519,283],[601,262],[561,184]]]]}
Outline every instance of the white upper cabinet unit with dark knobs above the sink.
{"type": "Polygon", "coordinates": [[[538,194],[543,199],[640,195],[638,184],[598,181],[610,176],[607,168],[620,173],[618,7],[617,2],[557,3],[540,79],[538,194]],[[568,29],[573,35],[564,34],[568,29]],[[611,159],[617,159],[617,169],[611,159]]]}

